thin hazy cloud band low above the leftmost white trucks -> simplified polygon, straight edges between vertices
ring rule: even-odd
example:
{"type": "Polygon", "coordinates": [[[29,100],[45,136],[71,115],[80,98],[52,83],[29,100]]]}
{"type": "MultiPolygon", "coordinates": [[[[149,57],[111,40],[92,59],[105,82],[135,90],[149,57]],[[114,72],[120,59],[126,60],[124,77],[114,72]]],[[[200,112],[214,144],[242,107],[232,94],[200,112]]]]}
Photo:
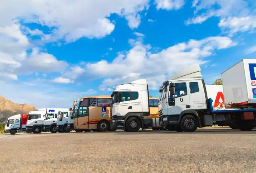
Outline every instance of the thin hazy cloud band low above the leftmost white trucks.
{"type": "Polygon", "coordinates": [[[76,88],[68,88],[65,85],[53,86],[45,80],[34,82],[13,83],[0,81],[1,95],[15,103],[27,103],[40,108],[71,108],[75,99],[88,95],[96,95],[97,91],[77,91],[76,88]]]}

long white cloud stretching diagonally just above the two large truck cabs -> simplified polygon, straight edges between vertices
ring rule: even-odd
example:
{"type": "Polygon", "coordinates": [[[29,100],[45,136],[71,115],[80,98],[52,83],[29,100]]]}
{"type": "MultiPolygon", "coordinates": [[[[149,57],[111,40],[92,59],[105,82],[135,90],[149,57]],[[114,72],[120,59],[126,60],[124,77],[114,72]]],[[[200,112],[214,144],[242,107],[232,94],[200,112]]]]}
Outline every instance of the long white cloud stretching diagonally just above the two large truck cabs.
{"type": "Polygon", "coordinates": [[[150,45],[134,41],[131,50],[120,52],[112,62],[101,60],[96,63],[86,63],[85,73],[77,77],[79,80],[85,77],[105,78],[99,86],[102,91],[139,78],[146,78],[151,89],[158,89],[163,80],[181,68],[195,62],[206,63],[208,60],[204,58],[214,55],[215,50],[236,44],[229,37],[217,36],[203,40],[189,40],[187,43],[179,43],[158,53],[152,53],[150,45]],[[156,64],[161,68],[154,68],[156,64]]]}

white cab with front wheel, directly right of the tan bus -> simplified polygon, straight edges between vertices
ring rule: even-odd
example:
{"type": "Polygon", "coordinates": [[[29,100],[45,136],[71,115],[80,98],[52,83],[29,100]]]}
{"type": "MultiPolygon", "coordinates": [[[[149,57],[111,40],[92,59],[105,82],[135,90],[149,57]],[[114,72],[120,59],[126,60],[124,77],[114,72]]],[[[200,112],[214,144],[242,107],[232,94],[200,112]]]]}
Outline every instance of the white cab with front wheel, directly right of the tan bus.
{"type": "Polygon", "coordinates": [[[118,85],[111,97],[111,128],[125,131],[144,129],[143,119],[150,115],[146,79],[118,85]]]}

